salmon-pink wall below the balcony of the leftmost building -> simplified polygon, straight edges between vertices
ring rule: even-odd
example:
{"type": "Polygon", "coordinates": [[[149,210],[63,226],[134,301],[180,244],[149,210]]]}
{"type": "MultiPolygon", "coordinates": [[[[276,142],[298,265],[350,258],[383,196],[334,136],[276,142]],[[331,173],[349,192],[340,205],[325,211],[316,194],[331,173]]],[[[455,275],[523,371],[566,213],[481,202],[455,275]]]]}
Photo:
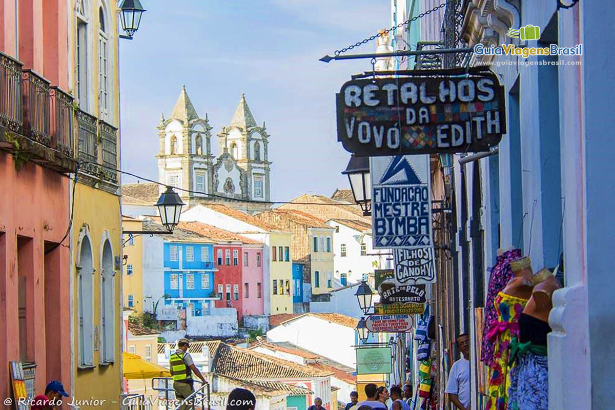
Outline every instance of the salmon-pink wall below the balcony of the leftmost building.
{"type": "Polygon", "coordinates": [[[37,392],[49,378],[72,392],[69,239],[49,251],[68,228],[69,179],[32,162],[17,172],[4,152],[0,175],[10,192],[0,197],[0,396],[11,396],[8,363],[20,361],[20,352],[37,365],[37,392]],[[25,344],[19,338],[20,278],[27,289],[25,344]]]}

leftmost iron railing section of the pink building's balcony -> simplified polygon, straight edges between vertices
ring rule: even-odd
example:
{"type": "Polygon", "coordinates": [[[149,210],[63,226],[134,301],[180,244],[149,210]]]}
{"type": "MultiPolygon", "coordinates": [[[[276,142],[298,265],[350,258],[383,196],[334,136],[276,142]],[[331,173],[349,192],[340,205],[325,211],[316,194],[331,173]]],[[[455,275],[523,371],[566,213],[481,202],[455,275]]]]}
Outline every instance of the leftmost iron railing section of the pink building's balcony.
{"type": "Polygon", "coordinates": [[[22,63],[0,52],[0,125],[22,130],[22,63]]]}

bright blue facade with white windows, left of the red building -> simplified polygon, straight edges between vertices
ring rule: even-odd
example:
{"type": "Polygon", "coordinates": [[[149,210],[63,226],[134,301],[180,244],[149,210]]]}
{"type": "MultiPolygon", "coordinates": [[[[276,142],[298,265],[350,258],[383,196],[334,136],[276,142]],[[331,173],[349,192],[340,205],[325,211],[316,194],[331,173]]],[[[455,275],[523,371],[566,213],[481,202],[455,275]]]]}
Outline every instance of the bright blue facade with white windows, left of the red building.
{"type": "Polygon", "coordinates": [[[165,305],[189,310],[192,316],[208,316],[216,299],[213,285],[213,244],[165,242],[165,305]]]}

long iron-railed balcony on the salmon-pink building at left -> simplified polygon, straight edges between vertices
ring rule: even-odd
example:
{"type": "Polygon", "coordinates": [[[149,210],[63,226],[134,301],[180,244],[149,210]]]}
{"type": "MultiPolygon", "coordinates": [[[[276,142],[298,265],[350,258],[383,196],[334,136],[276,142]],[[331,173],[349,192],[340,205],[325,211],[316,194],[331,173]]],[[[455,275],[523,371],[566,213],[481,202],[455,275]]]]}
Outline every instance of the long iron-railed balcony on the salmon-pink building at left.
{"type": "Polygon", "coordinates": [[[0,53],[0,148],[16,167],[29,160],[61,173],[76,170],[73,98],[0,53]]]}

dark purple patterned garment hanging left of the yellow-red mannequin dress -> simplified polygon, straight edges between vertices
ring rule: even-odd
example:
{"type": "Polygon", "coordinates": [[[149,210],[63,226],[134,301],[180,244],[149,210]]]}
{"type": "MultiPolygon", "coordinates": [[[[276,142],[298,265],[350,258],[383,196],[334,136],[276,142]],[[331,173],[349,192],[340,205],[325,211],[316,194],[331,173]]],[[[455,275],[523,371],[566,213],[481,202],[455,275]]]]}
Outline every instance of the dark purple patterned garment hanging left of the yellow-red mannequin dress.
{"type": "Polygon", "coordinates": [[[498,256],[496,264],[491,269],[489,276],[489,288],[487,291],[487,299],[485,301],[485,325],[483,327],[483,344],[480,349],[480,360],[487,366],[493,365],[493,341],[490,341],[487,334],[491,330],[493,323],[498,321],[498,312],[496,312],[493,301],[498,296],[498,293],[506,287],[506,284],[515,275],[510,269],[510,262],[521,258],[521,250],[513,249],[502,253],[498,256]]]}

